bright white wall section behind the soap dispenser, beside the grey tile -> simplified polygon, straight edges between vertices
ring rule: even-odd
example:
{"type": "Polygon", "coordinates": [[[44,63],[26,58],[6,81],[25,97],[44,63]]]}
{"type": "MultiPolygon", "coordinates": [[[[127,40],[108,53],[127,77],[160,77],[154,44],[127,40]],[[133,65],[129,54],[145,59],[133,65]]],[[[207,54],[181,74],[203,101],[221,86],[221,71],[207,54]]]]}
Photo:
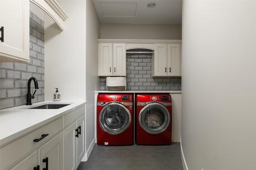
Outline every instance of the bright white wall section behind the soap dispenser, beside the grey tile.
{"type": "Polygon", "coordinates": [[[61,33],[55,24],[45,27],[45,100],[53,100],[55,87],[62,101],[86,100],[86,4],[83,0],[59,4],[68,19],[61,33]]]}

